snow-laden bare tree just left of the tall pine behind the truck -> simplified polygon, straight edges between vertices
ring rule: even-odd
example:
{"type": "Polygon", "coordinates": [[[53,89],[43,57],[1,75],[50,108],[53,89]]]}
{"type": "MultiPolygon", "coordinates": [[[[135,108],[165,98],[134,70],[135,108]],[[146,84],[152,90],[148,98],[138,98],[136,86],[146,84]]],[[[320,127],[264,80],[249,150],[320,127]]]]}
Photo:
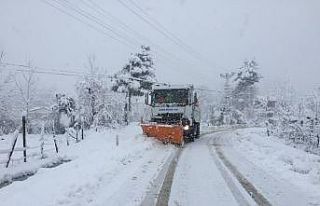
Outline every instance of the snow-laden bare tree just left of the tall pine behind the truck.
{"type": "Polygon", "coordinates": [[[106,126],[123,121],[124,95],[110,91],[105,75],[89,58],[89,74],[77,83],[78,107],[85,126],[106,126]]]}

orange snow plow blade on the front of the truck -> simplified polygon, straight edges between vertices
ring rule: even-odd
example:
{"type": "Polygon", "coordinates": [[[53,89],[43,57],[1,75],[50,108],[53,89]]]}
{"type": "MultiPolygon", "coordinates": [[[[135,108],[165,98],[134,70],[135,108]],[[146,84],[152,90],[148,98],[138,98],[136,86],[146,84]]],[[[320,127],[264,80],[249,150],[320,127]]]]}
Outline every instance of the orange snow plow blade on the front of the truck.
{"type": "Polygon", "coordinates": [[[141,124],[143,133],[162,142],[181,145],[183,143],[183,128],[180,125],[141,124]]]}

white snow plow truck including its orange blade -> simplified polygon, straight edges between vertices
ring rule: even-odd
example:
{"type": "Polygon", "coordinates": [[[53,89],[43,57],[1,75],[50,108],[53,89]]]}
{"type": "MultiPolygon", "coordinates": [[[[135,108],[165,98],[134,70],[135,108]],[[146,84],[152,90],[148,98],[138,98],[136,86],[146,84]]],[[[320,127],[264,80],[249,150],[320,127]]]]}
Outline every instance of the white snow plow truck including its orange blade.
{"type": "Polygon", "coordinates": [[[145,102],[151,108],[150,120],[141,122],[146,136],[180,146],[199,138],[200,108],[192,85],[153,86],[145,102]]]}

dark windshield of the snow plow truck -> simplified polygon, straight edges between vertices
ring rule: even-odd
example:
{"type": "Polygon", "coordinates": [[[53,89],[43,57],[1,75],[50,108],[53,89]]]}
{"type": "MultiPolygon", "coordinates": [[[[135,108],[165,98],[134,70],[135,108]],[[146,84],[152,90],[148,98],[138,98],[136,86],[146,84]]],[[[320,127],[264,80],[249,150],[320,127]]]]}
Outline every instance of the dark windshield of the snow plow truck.
{"type": "Polygon", "coordinates": [[[188,104],[188,90],[187,89],[159,89],[153,92],[153,103],[176,103],[188,104]]]}

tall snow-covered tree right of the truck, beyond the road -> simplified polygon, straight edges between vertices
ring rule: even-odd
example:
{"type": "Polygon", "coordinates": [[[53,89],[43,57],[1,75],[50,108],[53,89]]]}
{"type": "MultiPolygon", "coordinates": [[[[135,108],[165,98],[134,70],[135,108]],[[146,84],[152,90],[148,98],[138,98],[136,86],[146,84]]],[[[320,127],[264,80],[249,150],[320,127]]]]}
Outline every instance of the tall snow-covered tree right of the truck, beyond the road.
{"type": "Polygon", "coordinates": [[[254,60],[245,61],[237,71],[220,75],[224,92],[219,106],[215,107],[216,124],[243,124],[256,118],[256,84],[261,79],[258,68],[254,60]]]}

